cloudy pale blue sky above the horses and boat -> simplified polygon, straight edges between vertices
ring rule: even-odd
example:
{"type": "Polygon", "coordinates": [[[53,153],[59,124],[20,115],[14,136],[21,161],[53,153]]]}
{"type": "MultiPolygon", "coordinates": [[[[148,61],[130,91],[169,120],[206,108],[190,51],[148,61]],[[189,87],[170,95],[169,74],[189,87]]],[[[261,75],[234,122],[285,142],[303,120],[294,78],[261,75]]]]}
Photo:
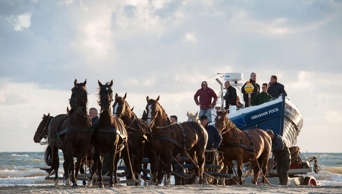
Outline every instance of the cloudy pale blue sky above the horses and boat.
{"type": "MultiPolygon", "coordinates": [[[[186,121],[216,73],[271,75],[303,114],[302,152],[342,152],[342,1],[0,1],[0,152],[43,151],[43,114],[65,114],[74,80],[113,80],[140,116],[146,96],[186,121]]],[[[219,78],[220,79],[220,78],[219,78]]]]}

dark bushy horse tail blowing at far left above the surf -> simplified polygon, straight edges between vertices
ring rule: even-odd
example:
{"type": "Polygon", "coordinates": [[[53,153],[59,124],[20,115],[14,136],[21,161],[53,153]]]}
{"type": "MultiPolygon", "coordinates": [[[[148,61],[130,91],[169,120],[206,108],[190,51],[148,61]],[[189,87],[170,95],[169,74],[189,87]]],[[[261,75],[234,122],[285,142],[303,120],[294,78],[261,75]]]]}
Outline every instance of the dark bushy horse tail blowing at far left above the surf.
{"type": "Polygon", "coordinates": [[[58,157],[58,149],[52,149],[49,145],[44,151],[44,160],[47,166],[50,168],[40,168],[41,170],[45,170],[50,175],[55,174],[55,169],[58,169],[59,157],[58,157]]]}

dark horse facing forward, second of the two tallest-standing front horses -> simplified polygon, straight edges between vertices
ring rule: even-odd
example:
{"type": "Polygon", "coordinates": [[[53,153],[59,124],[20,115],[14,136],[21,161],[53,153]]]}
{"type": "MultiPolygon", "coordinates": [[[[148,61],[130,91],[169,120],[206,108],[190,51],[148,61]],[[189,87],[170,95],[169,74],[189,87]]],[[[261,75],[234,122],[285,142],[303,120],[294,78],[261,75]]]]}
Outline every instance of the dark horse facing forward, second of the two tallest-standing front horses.
{"type": "Polygon", "coordinates": [[[130,167],[128,146],[127,146],[127,131],[121,119],[113,116],[110,111],[110,103],[113,101],[113,80],[102,84],[98,80],[98,105],[101,106],[101,113],[98,122],[94,126],[91,135],[91,142],[94,147],[93,168],[88,185],[92,185],[94,173],[98,171],[98,187],[103,188],[102,183],[102,161],[101,153],[109,153],[109,187],[118,183],[117,167],[120,159],[121,150],[124,150],[123,157],[128,167],[130,167]],[[118,153],[118,154],[117,154],[118,153]],[[128,161],[128,162],[127,162],[128,161]]]}

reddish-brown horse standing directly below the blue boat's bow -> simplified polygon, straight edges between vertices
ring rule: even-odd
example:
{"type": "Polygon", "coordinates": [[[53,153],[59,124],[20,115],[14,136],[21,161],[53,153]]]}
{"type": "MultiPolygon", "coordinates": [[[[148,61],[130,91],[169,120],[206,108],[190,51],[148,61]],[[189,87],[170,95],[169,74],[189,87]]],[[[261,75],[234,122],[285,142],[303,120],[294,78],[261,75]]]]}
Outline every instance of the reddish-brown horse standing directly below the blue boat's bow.
{"type": "MultiPolygon", "coordinates": [[[[253,166],[253,184],[257,182],[262,165],[262,173],[266,175],[268,156],[271,153],[271,138],[261,129],[239,130],[227,117],[226,111],[216,111],[215,126],[222,134],[222,151],[224,163],[228,166],[228,172],[233,175],[232,161],[237,162],[239,183],[242,184],[242,163],[251,162],[253,166]],[[258,158],[258,159],[257,159],[258,158]],[[256,160],[257,159],[257,160],[256,160]]],[[[262,180],[265,183],[265,180],[262,180]]]]}

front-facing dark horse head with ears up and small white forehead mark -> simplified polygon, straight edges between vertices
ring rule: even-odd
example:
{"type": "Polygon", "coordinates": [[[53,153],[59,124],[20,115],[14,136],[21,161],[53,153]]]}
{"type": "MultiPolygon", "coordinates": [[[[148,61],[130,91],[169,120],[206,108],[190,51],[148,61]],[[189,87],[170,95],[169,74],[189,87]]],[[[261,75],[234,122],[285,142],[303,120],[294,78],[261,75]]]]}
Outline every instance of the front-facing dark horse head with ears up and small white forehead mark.
{"type": "Polygon", "coordinates": [[[98,81],[98,105],[100,105],[101,110],[109,110],[110,103],[113,101],[113,90],[111,86],[113,86],[113,80],[107,82],[106,84],[102,84],[98,81]]]}

